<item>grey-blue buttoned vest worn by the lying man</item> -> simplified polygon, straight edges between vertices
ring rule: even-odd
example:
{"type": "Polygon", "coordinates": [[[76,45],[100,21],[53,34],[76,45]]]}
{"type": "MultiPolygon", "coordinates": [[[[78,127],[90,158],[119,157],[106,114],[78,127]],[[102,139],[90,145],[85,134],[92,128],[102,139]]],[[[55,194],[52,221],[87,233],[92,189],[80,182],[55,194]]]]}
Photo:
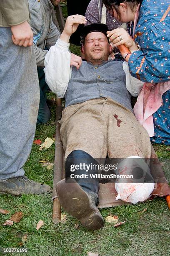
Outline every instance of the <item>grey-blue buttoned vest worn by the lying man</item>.
{"type": "Polygon", "coordinates": [[[82,61],[79,70],[72,67],[65,93],[65,107],[86,100],[110,97],[133,112],[130,93],[126,89],[122,61],[103,61],[101,65],[82,61]]]}

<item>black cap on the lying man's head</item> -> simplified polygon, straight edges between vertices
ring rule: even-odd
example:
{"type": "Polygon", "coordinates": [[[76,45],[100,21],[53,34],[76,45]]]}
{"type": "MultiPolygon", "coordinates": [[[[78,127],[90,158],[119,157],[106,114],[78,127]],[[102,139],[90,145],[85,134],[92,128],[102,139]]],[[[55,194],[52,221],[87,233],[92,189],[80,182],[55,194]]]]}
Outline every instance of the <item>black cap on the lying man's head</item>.
{"type": "MultiPolygon", "coordinates": [[[[82,31],[81,31],[81,36],[80,36],[80,41],[81,44],[84,43],[85,41],[85,37],[87,36],[87,34],[91,33],[91,32],[101,32],[103,33],[105,36],[107,36],[107,31],[108,31],[108,27],[106,24],[104,23],[93,23],[90,25],[85,26],[82,31]]],[[[108,38],[107,38],[108,39],[108,38]]]]}

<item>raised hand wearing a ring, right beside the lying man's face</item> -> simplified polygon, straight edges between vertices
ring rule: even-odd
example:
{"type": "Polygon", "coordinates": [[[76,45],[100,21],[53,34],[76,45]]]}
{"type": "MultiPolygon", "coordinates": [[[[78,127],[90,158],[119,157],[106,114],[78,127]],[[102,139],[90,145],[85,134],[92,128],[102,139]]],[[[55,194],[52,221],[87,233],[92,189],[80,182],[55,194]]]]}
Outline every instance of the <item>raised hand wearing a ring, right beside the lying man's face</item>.
{"type": "Polygon", "coordinates": [[[107,37],[109,41],[114,44],[114,46],[119,46],[124,44],[130,50],[138,50],[133,38],[128,34],[124,28],[116,28],[112,31],[107,31],[107,37]]]}

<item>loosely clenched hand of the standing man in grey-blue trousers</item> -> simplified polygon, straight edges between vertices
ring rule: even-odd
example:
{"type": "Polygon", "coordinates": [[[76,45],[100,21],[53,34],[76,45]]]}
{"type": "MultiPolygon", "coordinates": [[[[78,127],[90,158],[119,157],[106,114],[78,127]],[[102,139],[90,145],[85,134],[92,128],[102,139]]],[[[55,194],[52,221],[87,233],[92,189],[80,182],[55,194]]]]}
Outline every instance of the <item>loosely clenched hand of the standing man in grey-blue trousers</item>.
{"type": "Polygon", "coordinates": [[[31,46],[33,44],[33,33],[27,21],[11,26],[13,43],[19,46],[31,46]]]}

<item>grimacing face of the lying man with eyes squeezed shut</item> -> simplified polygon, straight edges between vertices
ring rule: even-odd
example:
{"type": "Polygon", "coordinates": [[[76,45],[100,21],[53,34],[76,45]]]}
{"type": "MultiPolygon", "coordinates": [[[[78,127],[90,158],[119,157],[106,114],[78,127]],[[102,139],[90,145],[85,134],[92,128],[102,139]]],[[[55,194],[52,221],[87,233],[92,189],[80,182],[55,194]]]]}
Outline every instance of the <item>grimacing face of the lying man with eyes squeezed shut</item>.
{"type": "Polygon", "coordinates": [[[102,32],[88,33],[82,51],[86,60],[92,64],[101,64],[102,61],[107,61],[110,54],[107,37],[102,32]]]}

